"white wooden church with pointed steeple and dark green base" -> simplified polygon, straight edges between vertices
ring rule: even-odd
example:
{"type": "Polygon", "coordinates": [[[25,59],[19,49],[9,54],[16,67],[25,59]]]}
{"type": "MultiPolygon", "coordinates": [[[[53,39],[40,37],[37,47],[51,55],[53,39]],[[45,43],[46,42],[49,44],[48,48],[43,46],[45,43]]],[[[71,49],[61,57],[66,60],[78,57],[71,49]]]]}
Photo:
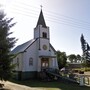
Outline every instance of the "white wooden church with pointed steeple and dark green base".
{"type": "Polygon", "coordinates": [[[50,44],[49,27],[46,26],[41,10],[34,28],[34,38],[17,46],[12,53],[16,55],[13,64],[18,79],[36,77],[45,68],[58,69],[56,51],[50,44]]]}

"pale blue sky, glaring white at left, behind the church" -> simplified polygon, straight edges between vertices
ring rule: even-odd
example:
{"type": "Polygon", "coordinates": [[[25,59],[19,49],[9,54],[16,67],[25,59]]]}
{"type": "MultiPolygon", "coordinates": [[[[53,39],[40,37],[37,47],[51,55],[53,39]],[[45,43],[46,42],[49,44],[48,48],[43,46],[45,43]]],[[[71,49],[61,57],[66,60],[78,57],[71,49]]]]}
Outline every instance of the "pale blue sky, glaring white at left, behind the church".
{"type": "Polygon", "coordinates": [[[8,17],[17,24],[11,29],[18,38],[16,46],[33,38],[40,5],[46,25],[50,28],[50,42],[56,50],[82,54],[80,36],[90,44],[90,0],[0,0],[8,17]]]}

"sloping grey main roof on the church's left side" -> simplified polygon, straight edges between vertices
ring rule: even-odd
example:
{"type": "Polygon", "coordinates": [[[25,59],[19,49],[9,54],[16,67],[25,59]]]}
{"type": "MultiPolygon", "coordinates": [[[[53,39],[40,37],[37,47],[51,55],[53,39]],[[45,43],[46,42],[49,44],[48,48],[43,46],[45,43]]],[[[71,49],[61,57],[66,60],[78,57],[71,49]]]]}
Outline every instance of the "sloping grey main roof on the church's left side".
{"type": "Polygon", "coordinates": [[[30,45],[32,45],[35,42],[35,40],[36,39],[32,39],[17,46],[14,50],[12,50],[11,53],[16,54],[16,53],[24,52],[30,45]]]}

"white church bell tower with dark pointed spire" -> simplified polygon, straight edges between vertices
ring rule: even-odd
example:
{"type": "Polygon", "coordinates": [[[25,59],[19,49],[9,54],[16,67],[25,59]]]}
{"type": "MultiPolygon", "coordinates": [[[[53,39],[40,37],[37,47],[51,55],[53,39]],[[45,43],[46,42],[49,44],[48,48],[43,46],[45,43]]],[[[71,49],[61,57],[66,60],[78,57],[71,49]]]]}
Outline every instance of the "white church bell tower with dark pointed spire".
{"type": "Polygon", "coordinates": [[[38,39],[39,50],[42,49],[43,45],[46,45],[49,50],[49,43],[50,43],[49,27],[46,26],[42,9],[37,21],[36,28],[34,29],[34,39],[38,39]]]}

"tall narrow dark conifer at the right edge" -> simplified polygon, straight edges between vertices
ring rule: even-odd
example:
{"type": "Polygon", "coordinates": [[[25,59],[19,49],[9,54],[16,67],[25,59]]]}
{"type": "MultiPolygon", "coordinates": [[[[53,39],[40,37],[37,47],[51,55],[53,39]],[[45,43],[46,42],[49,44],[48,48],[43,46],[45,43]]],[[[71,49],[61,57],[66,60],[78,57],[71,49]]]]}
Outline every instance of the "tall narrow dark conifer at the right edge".
{"type": "Polygon", "coordinates": [[[82,51],[83,51],[83,59],[84,59],[84,64],[85,66],[90,67],[90,46],[89,44],[85,41],[83,34],[81,35],[81,46],[82,46],[82,51]]]}

